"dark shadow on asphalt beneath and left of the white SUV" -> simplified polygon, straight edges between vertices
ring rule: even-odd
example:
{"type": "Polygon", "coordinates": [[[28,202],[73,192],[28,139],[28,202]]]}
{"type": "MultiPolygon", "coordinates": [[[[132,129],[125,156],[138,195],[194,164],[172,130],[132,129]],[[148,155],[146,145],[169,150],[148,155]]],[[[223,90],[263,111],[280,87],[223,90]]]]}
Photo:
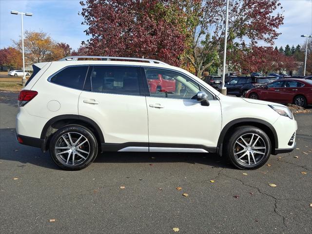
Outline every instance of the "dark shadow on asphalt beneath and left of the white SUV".
{"type": "MultiPolygon", "coordinates": [[[[19,144],[16,140],[15,129],[13,128],[0,129],[0,159],[60,170],[53,162],[49,152],[42,153],[39,148],[19,144]]],[[[93,163],[155,164],[166,162],[185,162],[211,167],[233,168],[224,157],[205,153],[104,152],[99,154],[93,163]]],[[[17,166],[25,167],[27,165],[17,166]]]]}

